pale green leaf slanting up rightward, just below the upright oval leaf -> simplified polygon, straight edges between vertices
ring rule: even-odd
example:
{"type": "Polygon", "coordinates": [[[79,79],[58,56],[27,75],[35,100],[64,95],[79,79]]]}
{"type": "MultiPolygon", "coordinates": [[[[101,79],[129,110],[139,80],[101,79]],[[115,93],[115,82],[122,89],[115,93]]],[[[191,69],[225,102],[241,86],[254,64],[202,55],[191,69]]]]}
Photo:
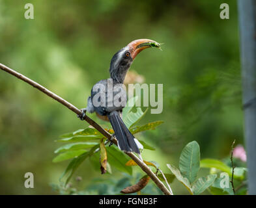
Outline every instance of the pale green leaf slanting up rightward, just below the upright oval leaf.
{"type": "Polygon", "coordinates": [[[198,195],[204,192],[206,188],[210,187],[214,183],[216,177],[216,174],[212,174],[197,179],[197,181],[195,181],[192,186],[193,194],[198,195]]]}

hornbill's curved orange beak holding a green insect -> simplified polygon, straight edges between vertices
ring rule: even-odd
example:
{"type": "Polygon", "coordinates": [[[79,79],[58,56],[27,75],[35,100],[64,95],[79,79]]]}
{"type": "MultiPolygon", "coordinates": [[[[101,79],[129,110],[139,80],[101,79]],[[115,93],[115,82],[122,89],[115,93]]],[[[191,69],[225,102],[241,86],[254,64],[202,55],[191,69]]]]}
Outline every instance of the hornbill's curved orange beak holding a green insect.
{"type": "Polygon", "coordinates": [[[130,53],[132,55],[132,59],[135,59],[137,54],[147,47],[158,47],[160,48],[160,44],[158,42],[155,42],[154,40],[150,39],[138,39],[134,40],[133,42],[130,42],[130,44],[127,45],[130,47],[130,53]]]}

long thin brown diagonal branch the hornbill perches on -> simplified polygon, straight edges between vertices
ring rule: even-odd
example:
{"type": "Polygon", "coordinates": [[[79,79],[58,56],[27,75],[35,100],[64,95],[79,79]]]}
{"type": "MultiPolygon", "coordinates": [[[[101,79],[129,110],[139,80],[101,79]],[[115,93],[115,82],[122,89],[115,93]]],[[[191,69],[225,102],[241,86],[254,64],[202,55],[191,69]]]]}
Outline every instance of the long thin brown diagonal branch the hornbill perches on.
{"type": "MultiPolygon", "coordinates": [[[[46,89],[44,86],[39,85],[38,83],[36,83],[35,81],[29,79],[28,77],[25,77],[24,75],[22,75],[21,73],[18,73],[10,68],[8,68],[7,66],[0,64],[0,68],[1,70],[4,70],[7,73],[10,73],[11,75],[14,75],[15,77],[17,77],[18,79],[21,79],[22,81],[25,81],[26,83],[28,83],[29,85],[32,85],[33,87],[37,88],[38,90],[40,90],[41,92],[43,92],[44,94],[48,95],[49,97],[55,99],[56,101],[58,101],[59,103],[61,103],[62,105],[66,106],[68,109],[72,110],[73,112],[75,112],[76,114],[78,114],[79,116],[82,115],[81,110],[79,110],[77,107],[75,107],[74,105],[72,105],[71,103],[69,103],[68,101],[64,100],[63,98],[57,96],[56,94],[54,94],[53,92],[51,92],[50,90],[46,89]]],[[[85,116],[83,117],[84,120],[89,123],[90,125],[92,125],[92,127],[94,127],[95,129],[97,129],[98,131],[100,131],[100,133],[102,133],[102,135],[106,136],[106,138],[111,139],[111,135],[104,130],[100,125],[98,125],[98,123],[94,122],[94,120],[92,120],[91,118],[89,118],[89,116],[87,116],[85,114],[85,116]]],[[[117,140],[114,138],[113,143],[115,145],[117,145],[117,140]]],[[[138,166],[141,167],[141,169],[147,174],[149,175],[149,177],[152,179],[152,181],[154,181],[154,183],[156,183],[156,185],[158,186],[158,188],[160,188],[162,190],[162,192],[165,195],[172,195],[171,192],[169,192],[169,190],[165,187],[164,183],[162,183],[162,181],[160,181],[160,179],[158,179],[158,177],[156,177],[156,175],[154,174],[154,172],[152,172],[152,170],[143,162],[141,161],[136,155],[134,155],[134,153],[132,152],[126,152],[126,154],[132,158],[137,164],[138,166]]]]}

